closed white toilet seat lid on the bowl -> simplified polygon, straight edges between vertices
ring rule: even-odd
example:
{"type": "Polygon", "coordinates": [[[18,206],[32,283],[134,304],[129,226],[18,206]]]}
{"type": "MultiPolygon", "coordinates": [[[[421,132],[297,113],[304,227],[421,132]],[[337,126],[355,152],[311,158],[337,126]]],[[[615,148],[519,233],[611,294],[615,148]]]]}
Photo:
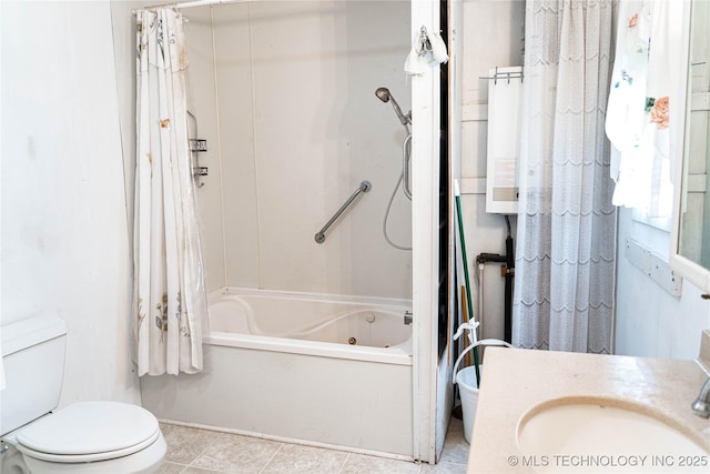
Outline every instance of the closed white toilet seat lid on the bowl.
{"type": "Polygon", "coordinates": [[[18,448],[50,462],[93,462],[133,454],[160,435],[149,411],[119,402],[78,402],[23,427],[18,448]]]}

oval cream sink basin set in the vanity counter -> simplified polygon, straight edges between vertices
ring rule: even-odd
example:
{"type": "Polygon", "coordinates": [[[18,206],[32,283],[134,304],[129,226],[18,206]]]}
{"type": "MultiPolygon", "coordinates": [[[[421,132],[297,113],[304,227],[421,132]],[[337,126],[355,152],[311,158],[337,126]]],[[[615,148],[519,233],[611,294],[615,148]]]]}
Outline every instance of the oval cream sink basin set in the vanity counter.
{"type": "Polygon", "coordinates": [[[647,406],[616,399],[536,405],[518,421],[516,440],[523,465],[537,472],[710,472],[700,438],[647,406]]]}

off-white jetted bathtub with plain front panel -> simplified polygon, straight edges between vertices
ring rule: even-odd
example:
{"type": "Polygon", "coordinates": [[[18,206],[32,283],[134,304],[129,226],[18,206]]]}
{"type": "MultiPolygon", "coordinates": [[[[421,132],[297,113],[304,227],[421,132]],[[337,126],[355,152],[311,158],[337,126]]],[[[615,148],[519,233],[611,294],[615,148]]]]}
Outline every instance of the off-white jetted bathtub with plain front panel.
{"type": "Polygon", "coordinates": [[[207,370],[141,379],[143,406],[190,426],[413,458],[409,302],[225,289],[207,370]]]}

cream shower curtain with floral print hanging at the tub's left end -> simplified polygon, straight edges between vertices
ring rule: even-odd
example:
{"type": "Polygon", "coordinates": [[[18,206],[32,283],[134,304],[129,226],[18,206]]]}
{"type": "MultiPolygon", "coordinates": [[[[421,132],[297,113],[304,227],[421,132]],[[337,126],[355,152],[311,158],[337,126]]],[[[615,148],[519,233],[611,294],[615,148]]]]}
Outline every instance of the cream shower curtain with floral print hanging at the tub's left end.
{"type": "Polygon", "coordinates": [[[207,319],[187,141],[182,16],[136,14],[134,359],[139,375],[203,369],[207,319]]]}

